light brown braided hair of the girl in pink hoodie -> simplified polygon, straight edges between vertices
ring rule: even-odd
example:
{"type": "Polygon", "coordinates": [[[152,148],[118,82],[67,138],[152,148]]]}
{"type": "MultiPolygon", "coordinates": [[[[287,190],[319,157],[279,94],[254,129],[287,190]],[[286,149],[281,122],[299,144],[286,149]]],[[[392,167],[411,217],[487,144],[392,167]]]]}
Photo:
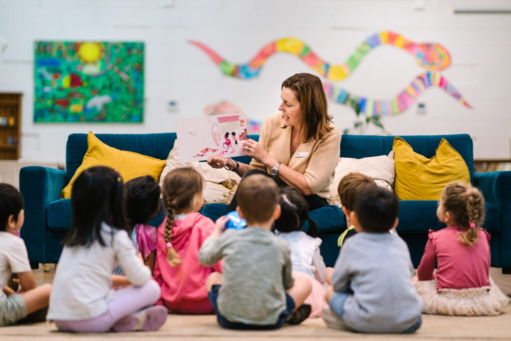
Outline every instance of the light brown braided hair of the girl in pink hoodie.
{"type": "Polygon", "coordinates": [[[179,213],[193,207],[193,198],[202,192],[202,175],[190,167],[174,169],[165,176],[162,192],[167,209],[167,222],[165,223],[165,242],[169,246],[167,261],[170,265],[176,266],[181,264],[181,260],[171,243],[174,216],[176,212],[179,213]]]}

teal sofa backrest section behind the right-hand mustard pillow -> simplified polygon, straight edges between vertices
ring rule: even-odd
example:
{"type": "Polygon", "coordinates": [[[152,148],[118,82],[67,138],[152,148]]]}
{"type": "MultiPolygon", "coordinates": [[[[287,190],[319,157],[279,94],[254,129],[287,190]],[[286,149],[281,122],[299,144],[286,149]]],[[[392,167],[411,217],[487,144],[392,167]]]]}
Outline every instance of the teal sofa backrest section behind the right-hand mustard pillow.
{"type": "MultiPolygon", "coordinates": [[[[469,134],[453,135],[400,135],[412,148],[413,151],[432,157],[442,140],[446,139],[449,144],[463,157],[470,172],[470,182],[474,184],[474,150],[472,138],[469,134]]],[[[369,156],[387,155],[392,150],[395,136],[377,135],[342,135],[341,157],[362,158],[369,156]]]]}

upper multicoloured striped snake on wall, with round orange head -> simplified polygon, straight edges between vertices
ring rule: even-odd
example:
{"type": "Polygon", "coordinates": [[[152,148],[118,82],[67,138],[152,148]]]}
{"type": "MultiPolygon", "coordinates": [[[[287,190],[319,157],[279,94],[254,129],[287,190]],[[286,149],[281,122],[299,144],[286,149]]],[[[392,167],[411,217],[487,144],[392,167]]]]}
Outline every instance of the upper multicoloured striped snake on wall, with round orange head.
{"type": "Polygon", "coordinates": [[[292,53],[301,58],[321,76],[330,80],[342,80],[350,77],[360,61],[374,48],[389,44],[401,48],[415,57],[419,65],[426,69],[443,70],[451,64],[449,52],[440,44],[417,44],[400,34],[383,31],[365,39],[355,52],[343,64],[332,65],[320,59],[303,41],[296,38],[282,38],[268,43],[259,53],[246,64],[233,64],[215,51],[195,40],[190,42],[201,48],[213,61],[220,66],[224,75],[242,79],[250,79],[259,75],[266,59],[277,52],[292,53]]]}

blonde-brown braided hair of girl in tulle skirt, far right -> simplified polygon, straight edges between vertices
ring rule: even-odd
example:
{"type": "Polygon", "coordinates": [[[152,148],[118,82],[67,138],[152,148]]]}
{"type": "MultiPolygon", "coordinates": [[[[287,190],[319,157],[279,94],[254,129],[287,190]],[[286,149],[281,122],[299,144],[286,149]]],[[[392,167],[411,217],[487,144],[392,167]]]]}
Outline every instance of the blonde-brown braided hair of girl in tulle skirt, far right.
{"type": "Polygon", "coordinates": [[[442,203],[444,212],[452,215],[459,230],[468,228],[459,234],[461,244],[476,245],[477,230],[484,218],[484,198],[481,192],[461,183],[451,184],[442,191],[442,203]]]}

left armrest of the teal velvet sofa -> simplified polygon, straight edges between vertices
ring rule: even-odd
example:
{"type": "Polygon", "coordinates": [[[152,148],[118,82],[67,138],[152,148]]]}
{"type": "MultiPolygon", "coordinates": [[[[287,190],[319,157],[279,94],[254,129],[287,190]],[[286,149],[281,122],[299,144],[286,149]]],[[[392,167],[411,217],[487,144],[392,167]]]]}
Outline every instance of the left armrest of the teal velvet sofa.
{"type": "Polygon", "coordinates": [[[19,171],[19,191],[25,200],[25,222],[20,231],[31,263],[44,263],[47,210],[67,184],[63,170],[29,166],[19,171]]]}

